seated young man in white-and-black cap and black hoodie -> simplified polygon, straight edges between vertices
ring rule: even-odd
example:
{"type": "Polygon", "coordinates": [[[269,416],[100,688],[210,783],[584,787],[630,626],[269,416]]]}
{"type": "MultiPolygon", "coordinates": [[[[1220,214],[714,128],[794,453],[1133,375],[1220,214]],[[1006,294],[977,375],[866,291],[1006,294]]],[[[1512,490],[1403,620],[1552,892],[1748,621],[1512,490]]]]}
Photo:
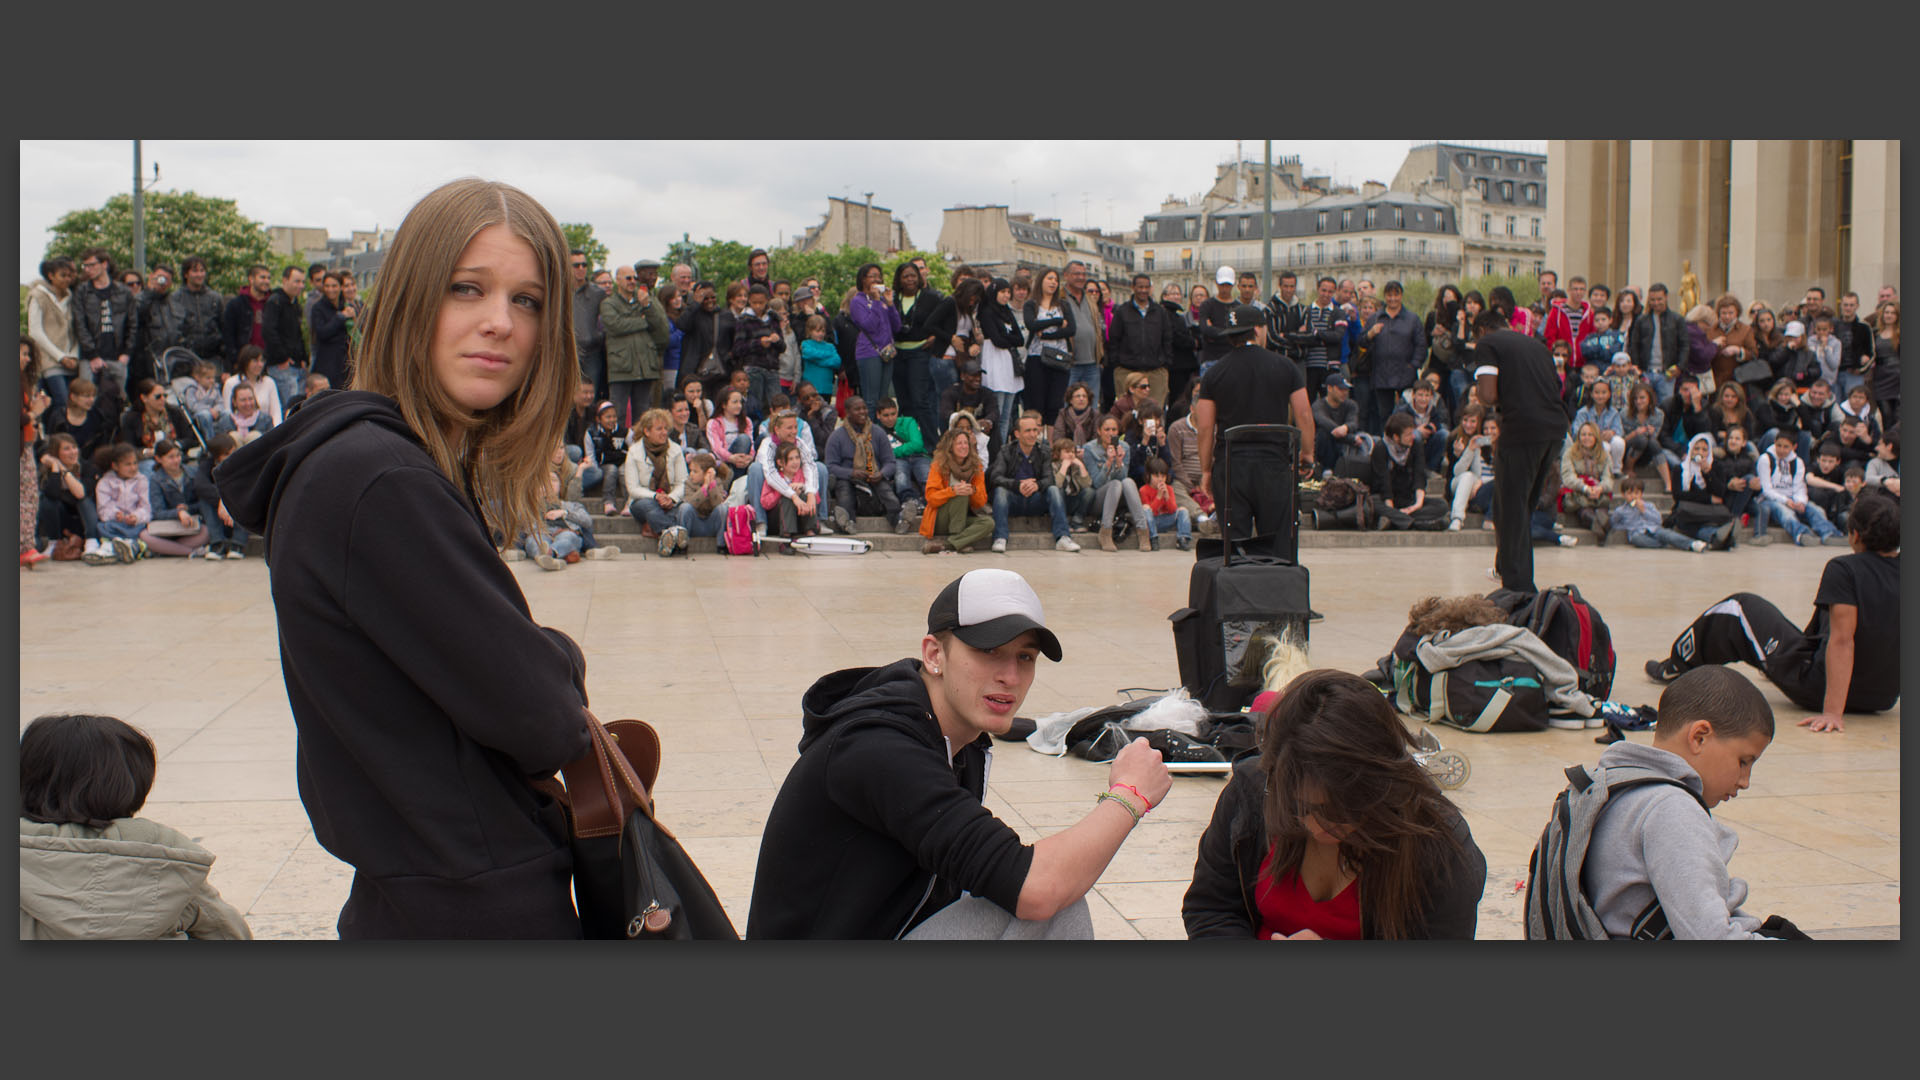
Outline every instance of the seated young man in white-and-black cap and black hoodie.
{"type": "Polygon", "coordinates": [[[993,734],[1058,663],[1014,571],[954,578],[920,655],[835,671],[801,698],[801,759],[766,817],[747,938],[1092,938],[1087,890],[1173,786],[1146,740],[1121,748],[1079,824],[1023,844],[983,805],[993,734]]]}

